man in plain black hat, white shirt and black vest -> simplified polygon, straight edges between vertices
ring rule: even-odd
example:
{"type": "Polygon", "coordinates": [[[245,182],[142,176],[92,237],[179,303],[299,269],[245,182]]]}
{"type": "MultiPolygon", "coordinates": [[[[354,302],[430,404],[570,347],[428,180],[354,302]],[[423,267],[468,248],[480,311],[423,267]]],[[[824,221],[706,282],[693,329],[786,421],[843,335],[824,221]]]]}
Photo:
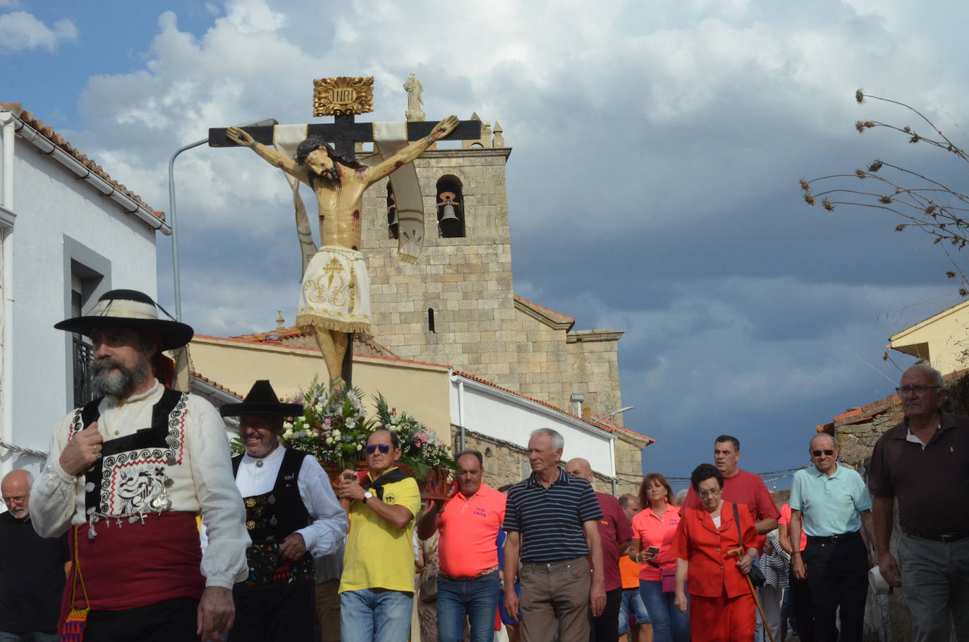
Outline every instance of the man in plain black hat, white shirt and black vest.
{"type": "Polygon", "coordinates": [[[301,403],[280,403],[266,380],[254,383],[241,403],[219,408],[223,417],[239,418],[245,453],[233,458],[233,469],[252,538],[249,575],[233,591],[232,642],[311,639],[313,558],[337,550],[347,532],[323,466],[279,443],[283,420],[302,410],[301,403]]]}

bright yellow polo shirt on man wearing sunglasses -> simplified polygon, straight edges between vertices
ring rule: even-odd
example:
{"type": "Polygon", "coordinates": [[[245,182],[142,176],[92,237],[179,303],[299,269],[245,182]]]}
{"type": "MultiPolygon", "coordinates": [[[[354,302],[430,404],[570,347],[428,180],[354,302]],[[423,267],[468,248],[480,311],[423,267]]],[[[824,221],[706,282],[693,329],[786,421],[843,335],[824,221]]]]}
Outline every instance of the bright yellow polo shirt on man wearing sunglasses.
{"type": "MultiPolygon", "coordinates": [[[[392,482],[384,486],[384,503],[405,506],[417,515],[421,489],[413,477],[392,482]]],[[[340,593],[361,589],[413,593],[413,534],[413,519],[403,529],[395,529],[362,501],[352,502],[340,593]]]]}

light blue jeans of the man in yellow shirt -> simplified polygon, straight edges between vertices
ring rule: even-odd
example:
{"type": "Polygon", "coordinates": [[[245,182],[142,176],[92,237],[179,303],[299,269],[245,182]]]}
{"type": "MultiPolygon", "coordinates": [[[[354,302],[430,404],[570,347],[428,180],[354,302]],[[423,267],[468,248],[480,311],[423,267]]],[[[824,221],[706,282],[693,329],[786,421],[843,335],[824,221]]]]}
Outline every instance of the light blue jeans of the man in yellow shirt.
{"type": "Polygon", "coordinates": [[[341,642],[407,642],[414,595],[386,589],[340,594],[341,642]],[[375,637],[376,635],[376,637],[375,637]]]}

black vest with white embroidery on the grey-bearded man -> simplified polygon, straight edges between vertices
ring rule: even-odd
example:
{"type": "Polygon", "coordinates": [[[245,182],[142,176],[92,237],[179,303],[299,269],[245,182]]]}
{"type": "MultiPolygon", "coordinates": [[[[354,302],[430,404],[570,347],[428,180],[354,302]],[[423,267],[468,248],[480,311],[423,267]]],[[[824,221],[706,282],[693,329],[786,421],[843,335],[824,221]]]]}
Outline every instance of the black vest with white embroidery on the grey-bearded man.
{"type": "MultiPolygon", "coordinates": [[[[68,438],[101,413],[104,398],[75,410],[68,438]]],[[[84,473],[84,504],[88,517],[134,516],[172,508],[172,478],[166,466],[184,460],[185,415],[188,394],[166,389],[151,409],[151,425],[136,433],[107,439],[101,458],[84,473]]]]}

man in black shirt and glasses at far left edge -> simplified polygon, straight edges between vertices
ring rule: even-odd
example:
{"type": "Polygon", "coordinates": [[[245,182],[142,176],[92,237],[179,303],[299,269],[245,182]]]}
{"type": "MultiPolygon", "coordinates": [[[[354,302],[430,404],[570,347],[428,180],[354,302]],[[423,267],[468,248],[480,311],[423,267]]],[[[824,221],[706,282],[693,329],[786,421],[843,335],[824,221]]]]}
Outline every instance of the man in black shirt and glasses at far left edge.
{"type": "Polygon", "coordinates": [[[70,559],[67,537],[45,539],[30,521],[26,470],[8,472],[0,489],[7,512],[0,515],[0,640],[54,642],[64,564],[70,559]]]}

